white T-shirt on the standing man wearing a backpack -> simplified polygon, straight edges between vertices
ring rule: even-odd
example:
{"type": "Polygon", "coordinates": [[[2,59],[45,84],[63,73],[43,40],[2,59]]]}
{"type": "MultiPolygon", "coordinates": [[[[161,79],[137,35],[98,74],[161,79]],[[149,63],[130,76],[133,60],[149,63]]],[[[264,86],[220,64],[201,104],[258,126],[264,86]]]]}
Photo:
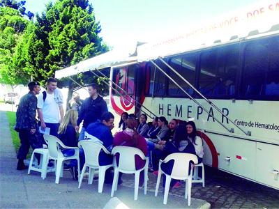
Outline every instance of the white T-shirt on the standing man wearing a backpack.
{"type": "Polygon", "coordinates": [[[38,95],[38,108],[43,111],[43,120],[45,123],[59,123],[60,111],[59,104],[54,100],[54,93],[47,93],[45,102],[43,100],[43,92],[38,95]]]}

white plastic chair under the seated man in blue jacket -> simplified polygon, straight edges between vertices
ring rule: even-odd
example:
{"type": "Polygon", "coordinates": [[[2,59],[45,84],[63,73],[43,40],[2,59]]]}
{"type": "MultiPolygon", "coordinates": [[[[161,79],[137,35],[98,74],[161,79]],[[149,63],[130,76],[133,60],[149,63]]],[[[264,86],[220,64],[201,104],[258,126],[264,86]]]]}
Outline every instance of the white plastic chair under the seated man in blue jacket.
{"type": "Polygon", "coordinates": [[[102,144],[95,141],[91,141],[91,139],[79,141],[78,146],[84,150],[84,155],[85,155],[85,163],[84,163],[84,167],[82,168],[82,174],[80,176],[80,183],[78,186],[79,189],[80,186],[82,185],[82,178],[86,171],[86,167],[89,167],[88,184],[89,185],[92,184],[95,169],[98,169],[99,170],[98,192],[102,193],[103,185],[105,181],[105,171],[107,171],[108,168],[113,167],[113,164],[100,166],[99,154],[102,150],[108,155],[110,155],[111,153],[102,144]]]}

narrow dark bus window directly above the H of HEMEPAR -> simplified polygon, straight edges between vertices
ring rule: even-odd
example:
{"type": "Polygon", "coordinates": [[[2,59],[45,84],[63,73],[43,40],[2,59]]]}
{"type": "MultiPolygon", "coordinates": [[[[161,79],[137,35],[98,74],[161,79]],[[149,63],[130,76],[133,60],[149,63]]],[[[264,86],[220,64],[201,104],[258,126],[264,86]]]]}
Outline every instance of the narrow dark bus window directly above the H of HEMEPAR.
{"type": "Polygon", "coordinates": [[[154,97],[163,97],[165,95],[165,75],[154,65],[149,65],[150,83],[149,95],[154,97]]]}

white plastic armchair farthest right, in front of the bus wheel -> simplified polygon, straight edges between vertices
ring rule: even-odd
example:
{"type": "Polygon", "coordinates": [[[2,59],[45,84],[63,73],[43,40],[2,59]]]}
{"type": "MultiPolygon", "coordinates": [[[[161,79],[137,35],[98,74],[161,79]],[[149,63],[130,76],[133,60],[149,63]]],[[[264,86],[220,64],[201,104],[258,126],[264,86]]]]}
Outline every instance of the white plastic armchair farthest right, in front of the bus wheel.
{"type": "Polygon", "coordinates": [[[155,196],[158,195],[158,189],[160,185],[160,178],[162,173],[166,176],[165,182],[165,192],[164,192],[164,204],[167,204],[167,196],[169,194],[169,185],[172,178],[177,180],[186,180],[186,188],[185,188],[185,199],[187,199],[188,194],[188,206],[191,203],[191,188],[192,188],[192,174],[193,169],[190,171],[190,175],[188,175],[189,171],[189,163],[193,161],[195,164],[197,163],[197,156],[188,153],[173,153],[168,155],[165,160],[160,160],[159,162],[159,171],[158,171],[158,178],[155,190],[155,196]],[[174,167],[172,168],[172,173],[170,175],[166,174],[161,169],[162,163],[167,163],[169,160],[174,160],[174,167]]]}

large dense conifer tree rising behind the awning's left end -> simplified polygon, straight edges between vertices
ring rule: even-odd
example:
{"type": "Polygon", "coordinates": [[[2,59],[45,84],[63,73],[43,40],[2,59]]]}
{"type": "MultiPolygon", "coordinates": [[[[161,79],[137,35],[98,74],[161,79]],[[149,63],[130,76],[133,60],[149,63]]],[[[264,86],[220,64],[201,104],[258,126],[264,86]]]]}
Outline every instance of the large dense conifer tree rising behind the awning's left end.
{"type": "MultiPolygon", "coordinates": [[[[18,47],[17,63],[38,81],[53,77],[55,70],[97,56],[107,51],[98,36],[93,6],[88,0],[57,0],[48,3],[41,15],[36,15],[34,26],[29,26],[18,47]],[[24,59],[22,59],[24,58],[24,59]]],[[[92,75],[77,75],[79,83],[88,83],[92,75]]],[[[93,77],[93,81],[98,82],[93,77]]],[[[74,82],[63,79],[59,85],[68,86],[70,95],[74,82]]]]}

